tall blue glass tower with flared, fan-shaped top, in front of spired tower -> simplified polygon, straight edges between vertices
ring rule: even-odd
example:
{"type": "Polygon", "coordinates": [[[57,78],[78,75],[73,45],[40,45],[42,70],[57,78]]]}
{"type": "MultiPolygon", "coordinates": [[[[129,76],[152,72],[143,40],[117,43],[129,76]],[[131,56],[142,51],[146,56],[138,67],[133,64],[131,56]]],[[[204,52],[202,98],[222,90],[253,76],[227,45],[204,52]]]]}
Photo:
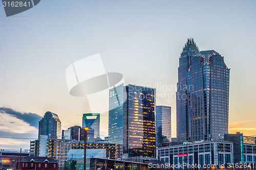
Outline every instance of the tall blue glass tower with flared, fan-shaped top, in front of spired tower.
{"type": "Polygon", "coordinates": [[[228,133],[229,68],[216,51],[193,58],[190,77],[191,140],[221,139],[228,133]]]}

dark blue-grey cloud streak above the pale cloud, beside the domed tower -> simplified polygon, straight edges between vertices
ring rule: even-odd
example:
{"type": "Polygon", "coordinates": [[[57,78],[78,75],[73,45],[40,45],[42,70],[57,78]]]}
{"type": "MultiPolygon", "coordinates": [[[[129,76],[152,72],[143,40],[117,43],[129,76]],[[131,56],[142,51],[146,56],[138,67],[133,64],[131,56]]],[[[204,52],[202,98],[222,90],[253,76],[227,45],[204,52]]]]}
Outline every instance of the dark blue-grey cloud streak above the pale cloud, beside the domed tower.
{"type": "Polygon", "coordinates": [[[35,128],[38,128],[38,122],[42,118],[40,115],[36,113],[22,113],[5,107],[0,107],[0,115],[1,114],[8,114],[14,116],[17,119],[22,120],[23,122],[26,122],[30,126],[33,126],[35,128]]]}

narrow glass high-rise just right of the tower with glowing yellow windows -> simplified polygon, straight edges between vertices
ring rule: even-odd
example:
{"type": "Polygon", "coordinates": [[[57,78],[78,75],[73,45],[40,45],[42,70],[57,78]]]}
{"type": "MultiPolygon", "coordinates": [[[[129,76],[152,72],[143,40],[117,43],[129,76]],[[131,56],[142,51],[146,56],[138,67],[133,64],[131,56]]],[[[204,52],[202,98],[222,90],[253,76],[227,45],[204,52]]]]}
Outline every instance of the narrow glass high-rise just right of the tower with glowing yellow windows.
{"type": "Polygon", "coordinates": [[[172,141],[171,108],[156,106],[156,146],[166,147],[172,141]]]}

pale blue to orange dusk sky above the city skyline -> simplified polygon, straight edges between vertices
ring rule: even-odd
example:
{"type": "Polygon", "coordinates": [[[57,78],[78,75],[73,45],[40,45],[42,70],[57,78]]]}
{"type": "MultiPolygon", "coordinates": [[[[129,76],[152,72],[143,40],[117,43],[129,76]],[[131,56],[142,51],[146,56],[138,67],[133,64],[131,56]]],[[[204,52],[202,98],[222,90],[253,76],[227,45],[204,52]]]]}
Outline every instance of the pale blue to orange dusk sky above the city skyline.
{"type": "MultiPolygon", "coordinates": [[[[100,53],[105,70],[121,73],[126,84],[157,87],[157,105],[172,107],[175,137],[177,70],[189,37],[200,50],[224,56],[230,68],[229,132],[256,134],[255,6],[249,0],[42,0],[10,17],[0,7],[0,136],[36,138],[47,111],[59,116],[62,129],[81,125],[88,99],[69,94],[65,71],[100,53]]],[[[106,136],[108,113],[100,116],[106,136]]],[[[29,149],[29,139],[0,140],[0,148],[20,147],[29,149]]]]}

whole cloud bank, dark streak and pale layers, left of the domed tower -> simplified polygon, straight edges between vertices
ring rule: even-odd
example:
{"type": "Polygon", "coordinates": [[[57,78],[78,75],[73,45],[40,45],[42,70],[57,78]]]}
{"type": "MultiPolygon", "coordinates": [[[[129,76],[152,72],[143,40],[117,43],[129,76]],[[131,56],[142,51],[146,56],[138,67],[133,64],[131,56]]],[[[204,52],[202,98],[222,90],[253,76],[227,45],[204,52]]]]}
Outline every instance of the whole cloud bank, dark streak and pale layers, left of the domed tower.
{"type": "Polygon", "coordinates": [[[38,136],[37,127],[40,119],[41,116],[35,113],[22,113],[0,107],[0,148],[29,149],[30,140],[34,140],[38,136]]]}

